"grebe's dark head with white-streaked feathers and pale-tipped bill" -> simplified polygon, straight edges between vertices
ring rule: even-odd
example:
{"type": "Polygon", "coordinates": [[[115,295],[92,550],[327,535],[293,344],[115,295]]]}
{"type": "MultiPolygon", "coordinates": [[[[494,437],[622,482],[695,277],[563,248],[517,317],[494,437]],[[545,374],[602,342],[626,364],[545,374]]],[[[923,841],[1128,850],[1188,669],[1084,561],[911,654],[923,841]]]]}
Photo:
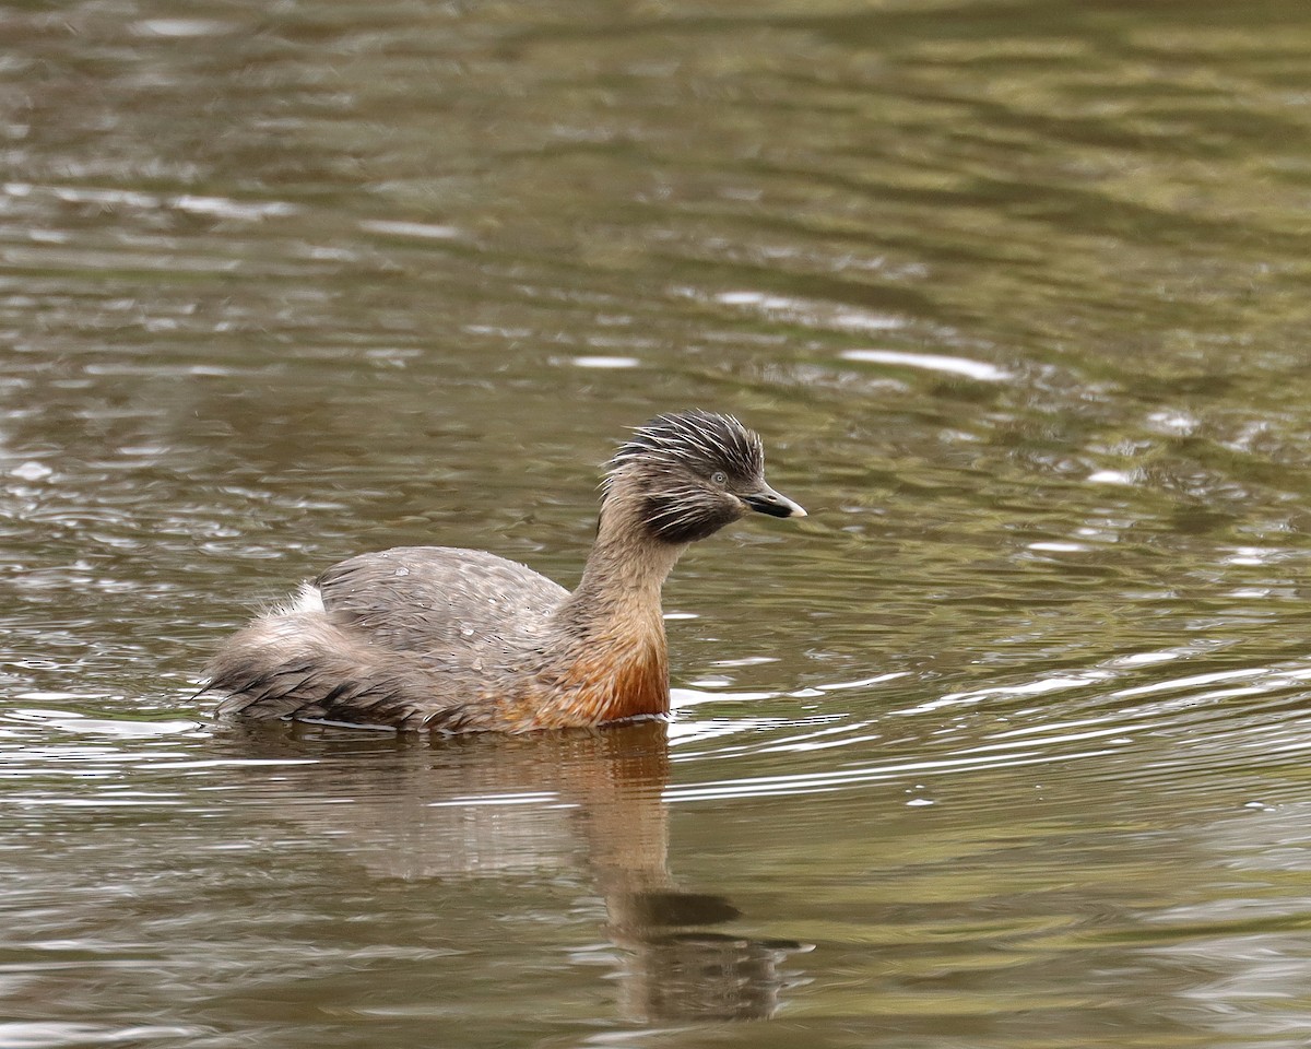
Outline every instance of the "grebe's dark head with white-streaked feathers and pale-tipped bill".
{"type": "Polygon", "coordinates": [[[606,473],[606,501],[635,506],[652,539],[694,543],[750,510],[805,517],[764,483],[764,446],[733,416],[671,412],[638,427],[606,473]]]}

